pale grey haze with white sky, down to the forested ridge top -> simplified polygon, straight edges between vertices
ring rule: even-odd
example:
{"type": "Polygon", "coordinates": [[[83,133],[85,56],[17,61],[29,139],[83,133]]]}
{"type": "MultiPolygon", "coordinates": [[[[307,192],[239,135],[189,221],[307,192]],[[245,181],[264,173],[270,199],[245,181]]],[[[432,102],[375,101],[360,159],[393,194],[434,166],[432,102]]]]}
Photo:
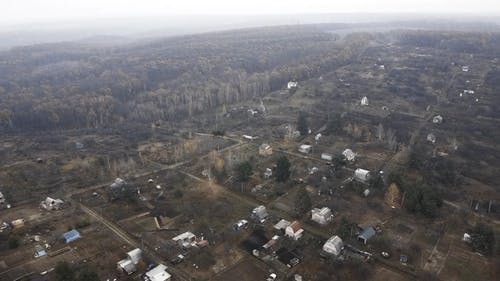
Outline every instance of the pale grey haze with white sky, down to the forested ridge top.
{"type": "Polygon", "coordinates": [[[498,15],[498,0],[0,0],[0,49],[89,38],[122,43],[268,25],[415,20],[500,23],[498,15]]]}

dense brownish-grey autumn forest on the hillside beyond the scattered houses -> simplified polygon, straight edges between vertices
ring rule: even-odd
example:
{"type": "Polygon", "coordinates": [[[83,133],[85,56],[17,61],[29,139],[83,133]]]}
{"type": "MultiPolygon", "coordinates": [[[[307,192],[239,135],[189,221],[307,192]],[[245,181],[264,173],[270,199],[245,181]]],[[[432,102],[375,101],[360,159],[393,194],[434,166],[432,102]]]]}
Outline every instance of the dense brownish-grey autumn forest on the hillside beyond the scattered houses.
{"type": "Polygon", "coordinates": [[[260,97],[289,80],[354,62],[373,40],[500,56],[498,33],[336,35],[288,26],[189,35],[121,47],[56,43],[0,53],[0,130],[176,122],[260,97]]]}

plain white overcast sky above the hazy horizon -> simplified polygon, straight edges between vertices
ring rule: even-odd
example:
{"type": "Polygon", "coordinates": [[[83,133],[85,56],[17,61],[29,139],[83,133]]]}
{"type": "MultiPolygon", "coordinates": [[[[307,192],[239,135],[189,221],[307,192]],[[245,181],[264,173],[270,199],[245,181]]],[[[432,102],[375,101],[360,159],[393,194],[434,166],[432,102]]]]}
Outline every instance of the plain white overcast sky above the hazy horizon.
{"type": "Polygon", "coordinates": [[[500,0],[0,0],[0,24],[171,14],[487,13],[500,0]]]}

